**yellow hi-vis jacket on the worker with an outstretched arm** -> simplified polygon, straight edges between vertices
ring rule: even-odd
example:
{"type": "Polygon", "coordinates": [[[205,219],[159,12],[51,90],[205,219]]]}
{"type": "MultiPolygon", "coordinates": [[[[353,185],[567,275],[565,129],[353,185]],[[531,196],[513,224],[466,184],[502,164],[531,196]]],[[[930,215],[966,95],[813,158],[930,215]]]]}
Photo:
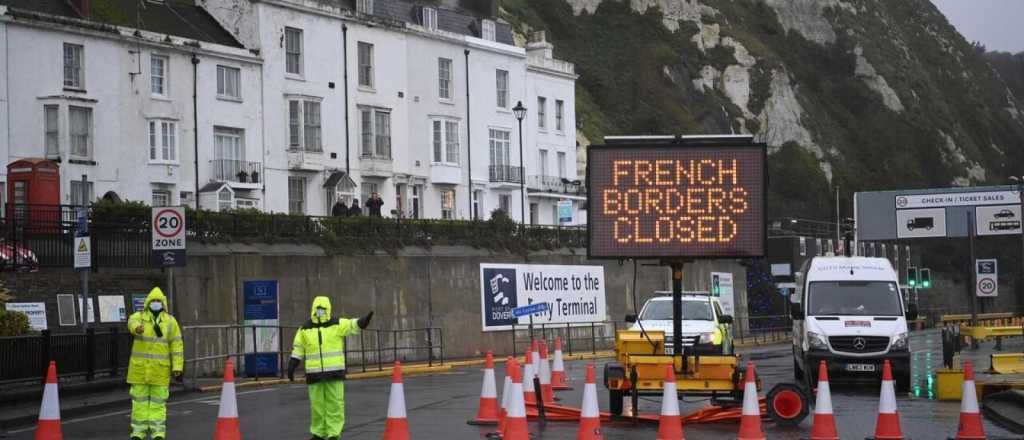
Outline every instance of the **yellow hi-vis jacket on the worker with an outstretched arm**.
{"type": "Polygon", "coordinates": [[[295,333],[292,357],[305,361],[306,383],[345,379],[345,337],[358,335],[358,319],[331,318],[331,300],[316,297],[306,322],[295,333]],[[325,309],[323,316],[316,309],[325,309]]]}

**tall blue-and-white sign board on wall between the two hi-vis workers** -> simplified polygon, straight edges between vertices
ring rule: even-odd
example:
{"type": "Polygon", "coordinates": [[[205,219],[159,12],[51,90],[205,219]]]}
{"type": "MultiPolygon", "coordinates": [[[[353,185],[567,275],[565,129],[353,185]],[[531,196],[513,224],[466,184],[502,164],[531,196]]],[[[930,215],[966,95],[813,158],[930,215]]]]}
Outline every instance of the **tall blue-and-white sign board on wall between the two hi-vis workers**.
{"type": "MultiPolygon", "coordinates": [[[[244,281],[242,284],[243,319],[246,325],[279,325],[278,281],[244,281]]],[[[246,375],[276,376],[279,328],[260,327],[246,331],[246,375]],[[255,338],[254,338],[255,337],[255,338]]]]}

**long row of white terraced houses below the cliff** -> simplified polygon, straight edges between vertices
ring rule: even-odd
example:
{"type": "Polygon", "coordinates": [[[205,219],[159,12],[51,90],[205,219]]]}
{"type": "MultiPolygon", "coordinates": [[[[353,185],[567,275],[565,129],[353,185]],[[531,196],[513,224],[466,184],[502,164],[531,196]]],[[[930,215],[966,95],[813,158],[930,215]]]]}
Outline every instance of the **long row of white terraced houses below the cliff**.
{"type": "Polygon", "coordinates": [[[585,222],[573,67],[543,33],[517,47],[490,0],[104,3],[124,13],[0,0],[16,15],[2,21],[14,69],[0,87],[12,127],[0,155],[59,159],[62,203],[80,202],[73,181],[85,174],[90,197],[155,205],[196,203],[198,186],[204,209],[328,215],[336,200],[362,205],[376,191],[385,216],[486,219],[501,208],[556,224],[568,202],[571,224],[585,222]],[[112,21],[117,35],[103,32],[112,21]],[[29,32],[40,36],[17,38],[29,32]],[[85,87],[66,85],[76,72],[85,87]]]}

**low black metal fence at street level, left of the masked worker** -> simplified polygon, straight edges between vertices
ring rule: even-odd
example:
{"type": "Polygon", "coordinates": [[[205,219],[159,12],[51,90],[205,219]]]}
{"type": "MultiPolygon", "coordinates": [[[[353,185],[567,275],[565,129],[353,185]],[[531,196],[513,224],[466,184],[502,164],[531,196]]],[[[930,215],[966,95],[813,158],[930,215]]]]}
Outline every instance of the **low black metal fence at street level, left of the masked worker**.
{"type": "Polygon", "coordinates": [[[0,385],[43,382],[50,360],[61,378],[120,377],[128,368],[131,340],[120,328],[0,338],[0,385]]]}

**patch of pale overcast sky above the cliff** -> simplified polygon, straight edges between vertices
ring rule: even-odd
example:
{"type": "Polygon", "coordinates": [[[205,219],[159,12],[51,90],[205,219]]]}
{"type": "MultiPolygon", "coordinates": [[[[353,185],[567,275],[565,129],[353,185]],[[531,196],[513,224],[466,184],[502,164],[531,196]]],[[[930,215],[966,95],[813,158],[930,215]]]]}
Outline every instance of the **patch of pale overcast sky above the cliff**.
{"type": "Polygon", "coordinates": [[[1024,0],[932,0],[949,23],[988,50],[1024,52],[1024,0]]]}

